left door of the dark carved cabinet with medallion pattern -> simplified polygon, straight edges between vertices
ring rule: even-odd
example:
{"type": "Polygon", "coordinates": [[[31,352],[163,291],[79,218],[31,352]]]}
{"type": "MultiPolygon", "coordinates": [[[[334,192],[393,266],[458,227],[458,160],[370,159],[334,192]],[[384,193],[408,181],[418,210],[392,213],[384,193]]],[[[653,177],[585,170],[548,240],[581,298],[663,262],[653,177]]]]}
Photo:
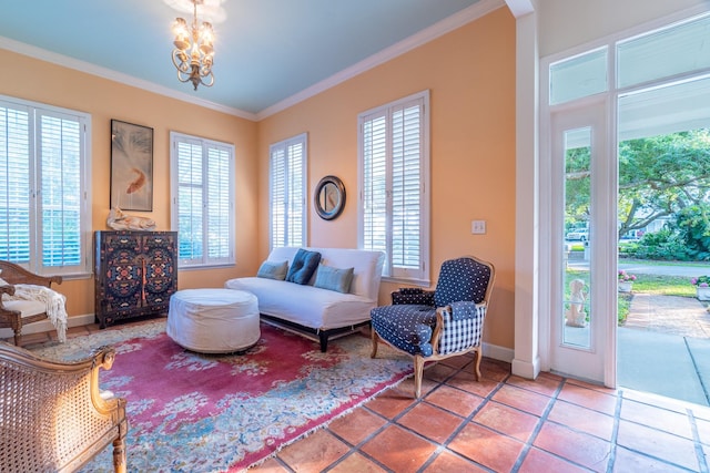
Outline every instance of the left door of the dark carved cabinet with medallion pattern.
{"type": "Polygon", "coordinates": [[[106,233],[101,253],[101,267],[105,277],[105,312],[141,307],[143,259],[139,238],[134,235],[106,233]]]}

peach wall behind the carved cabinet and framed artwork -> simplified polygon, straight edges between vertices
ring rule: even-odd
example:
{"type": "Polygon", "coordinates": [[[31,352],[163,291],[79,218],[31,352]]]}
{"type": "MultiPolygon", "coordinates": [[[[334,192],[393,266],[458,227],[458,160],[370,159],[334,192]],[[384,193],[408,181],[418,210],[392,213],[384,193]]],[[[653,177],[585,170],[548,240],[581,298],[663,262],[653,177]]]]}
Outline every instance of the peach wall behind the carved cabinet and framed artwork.
{"type": "MultiPolygon", "coordinates": [[[[0,82],[0,94],[91,114],[91,173],[93,229],[108,229],[110,183],[110,122],[118,119],[151,126],[153,135],[153,212],[129,212],[155,219],[170,229],[170,132],[178,131],[235,145],[236,259],[227,269],[183,270],[179,287],[222,287],[230,277],[253,274],[258,265],[257,124],[106,79],[61,68],[0,49],[0,63],[12,64],[12,80],[0,82]]],[[[185,85],[189,90],[189,84],[185,85]]],[[[70,317],[93,313],[93,279],[65,280],[58,289],[67,296],[70,317]]]]}

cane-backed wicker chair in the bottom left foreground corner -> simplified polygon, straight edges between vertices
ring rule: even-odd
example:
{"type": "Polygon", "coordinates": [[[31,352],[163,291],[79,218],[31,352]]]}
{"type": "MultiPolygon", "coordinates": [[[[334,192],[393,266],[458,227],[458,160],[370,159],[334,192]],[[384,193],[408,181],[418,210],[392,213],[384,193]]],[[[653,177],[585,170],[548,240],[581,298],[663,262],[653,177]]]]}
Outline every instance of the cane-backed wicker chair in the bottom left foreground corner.
{"type": "Polygon", "coordinates": [[[125,472],[125,400],[99,391],[114,354],[63,363],[0,341],[0,471],[73,472],[113,443],[125,472]]]}

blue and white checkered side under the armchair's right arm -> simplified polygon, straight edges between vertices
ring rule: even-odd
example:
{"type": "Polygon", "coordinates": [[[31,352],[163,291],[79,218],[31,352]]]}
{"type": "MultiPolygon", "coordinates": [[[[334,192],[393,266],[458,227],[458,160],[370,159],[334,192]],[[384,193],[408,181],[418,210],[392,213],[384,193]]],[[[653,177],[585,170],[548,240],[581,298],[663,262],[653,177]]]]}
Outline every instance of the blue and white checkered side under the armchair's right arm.
{"type": "Polygon", "coordinates": [[[452,302],[436,310],[432,337],[434,352],[439,354],[468,350],[480,345],[486,318],[486,302],[452,302]]]}

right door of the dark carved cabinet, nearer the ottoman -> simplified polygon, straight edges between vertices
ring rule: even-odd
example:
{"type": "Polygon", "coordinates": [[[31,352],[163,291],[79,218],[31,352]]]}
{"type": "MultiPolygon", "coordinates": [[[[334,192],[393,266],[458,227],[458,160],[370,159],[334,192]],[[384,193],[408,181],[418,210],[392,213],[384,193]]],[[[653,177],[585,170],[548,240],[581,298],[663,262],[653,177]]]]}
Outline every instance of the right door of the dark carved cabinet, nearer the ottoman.
{"type": "Polygon", "coordinates": [[[145,259],[143,288],[145,305],[165,305],[178,289],[174,235],[161,233],[145,235],[143,257],[145,259]]]}

